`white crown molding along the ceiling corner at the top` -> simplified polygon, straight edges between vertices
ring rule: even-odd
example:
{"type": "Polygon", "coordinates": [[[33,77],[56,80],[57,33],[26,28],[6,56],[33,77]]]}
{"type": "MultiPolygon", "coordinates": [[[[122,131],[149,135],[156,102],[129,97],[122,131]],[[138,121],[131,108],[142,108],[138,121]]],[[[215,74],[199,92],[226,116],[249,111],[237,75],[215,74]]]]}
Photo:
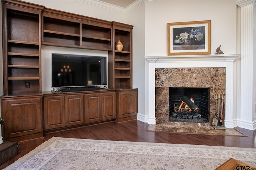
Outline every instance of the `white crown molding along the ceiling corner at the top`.
{"type": "Polygon", "coordinates": [[[137,6],[139,6],[140,4],[142,4],[144,2],[144,0],[136,0],[134,1],[132,4],[130,4],[129,6],[127,6],[126,8],[120,7],[120,6],[116,6],[113,4],[109,4],[100,0],[77,0],[80,2],[84,2],[87,4],[91,4],[91,5],[95,5],[95,6],[99,6],[102,8],[107,8],[110,10],[114,10],[117,12],[122,12],[122,13],[128,13],[131,10],[133,10],[134,8],[136,8],[137,6]]]}

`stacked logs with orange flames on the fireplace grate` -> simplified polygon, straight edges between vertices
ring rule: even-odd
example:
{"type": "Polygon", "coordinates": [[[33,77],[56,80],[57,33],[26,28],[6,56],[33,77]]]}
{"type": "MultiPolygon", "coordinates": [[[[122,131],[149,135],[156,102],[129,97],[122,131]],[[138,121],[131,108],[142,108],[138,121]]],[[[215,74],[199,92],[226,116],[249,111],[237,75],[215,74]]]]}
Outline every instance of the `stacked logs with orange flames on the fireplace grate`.
{"type": "Polygon", "coordinates": [[[178,105],[174,108],[174,118],[185,118],[185,119],[199,119],[199,108],[194,104],[193,99],[188,96],[182,96],[178,102],[178,105]]]}

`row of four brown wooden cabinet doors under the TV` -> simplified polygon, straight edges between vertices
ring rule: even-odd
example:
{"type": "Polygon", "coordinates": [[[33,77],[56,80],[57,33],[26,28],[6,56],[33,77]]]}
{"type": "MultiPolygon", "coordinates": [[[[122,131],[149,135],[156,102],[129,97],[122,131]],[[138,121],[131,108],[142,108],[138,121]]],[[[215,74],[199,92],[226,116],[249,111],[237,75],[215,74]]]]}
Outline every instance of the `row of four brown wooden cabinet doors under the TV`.
{"type": "Polygon", "coordinates": [[[47,92],[43,98],[44,132],[116,118],[116,90],[47,92]]]}

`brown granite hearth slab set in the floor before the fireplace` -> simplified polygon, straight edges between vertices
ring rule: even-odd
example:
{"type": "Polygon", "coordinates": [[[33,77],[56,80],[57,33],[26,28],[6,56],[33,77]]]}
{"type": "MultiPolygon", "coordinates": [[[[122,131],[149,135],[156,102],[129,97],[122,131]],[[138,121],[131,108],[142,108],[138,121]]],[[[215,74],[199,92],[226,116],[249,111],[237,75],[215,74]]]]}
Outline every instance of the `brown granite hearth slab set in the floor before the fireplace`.
{"type": "Polygon", "coordinates": [[[225,128],[225,129],[214,129],[208,124],[200,123],[189,123],[182,124],[147,124],[146,131],[158,131],[158,132],[176,132],[176,133],[189,133],[189,134],[210,134],[210,135],[225,135],[225,136],[242,136],[242,132],[235,128],[225,128]]]}

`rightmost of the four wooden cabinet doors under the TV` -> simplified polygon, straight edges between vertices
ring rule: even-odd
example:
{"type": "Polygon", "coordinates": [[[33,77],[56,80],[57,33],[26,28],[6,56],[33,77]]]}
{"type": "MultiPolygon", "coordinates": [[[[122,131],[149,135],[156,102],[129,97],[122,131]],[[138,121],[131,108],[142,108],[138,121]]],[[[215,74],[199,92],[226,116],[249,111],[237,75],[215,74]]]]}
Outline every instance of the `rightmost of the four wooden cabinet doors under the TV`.
{"type": "Polygon", "coordinates": [[[102,120],[116,118],[116,93],[108,92],[101,94],[102,120]]]}

